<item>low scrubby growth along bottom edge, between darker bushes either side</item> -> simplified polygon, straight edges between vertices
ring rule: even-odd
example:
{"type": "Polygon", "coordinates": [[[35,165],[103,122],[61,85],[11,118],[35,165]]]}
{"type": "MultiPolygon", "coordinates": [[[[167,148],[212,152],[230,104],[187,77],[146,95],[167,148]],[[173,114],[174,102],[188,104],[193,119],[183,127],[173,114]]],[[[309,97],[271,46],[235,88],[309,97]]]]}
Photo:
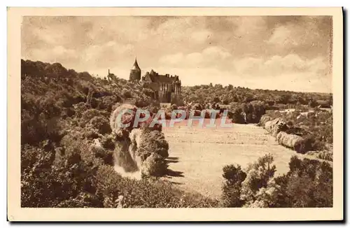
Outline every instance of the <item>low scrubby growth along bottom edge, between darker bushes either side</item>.
{"type": "Polygon", "coordinates": [[[215,207],[218,202],[200,195],[177,190],[161,180],[133,180],[122,178],[110,166],[100,167],[97,190],[104,195],[104,207],[116,207],[116,199],[123,195],[126,208],[185,208],[215,207]]]}

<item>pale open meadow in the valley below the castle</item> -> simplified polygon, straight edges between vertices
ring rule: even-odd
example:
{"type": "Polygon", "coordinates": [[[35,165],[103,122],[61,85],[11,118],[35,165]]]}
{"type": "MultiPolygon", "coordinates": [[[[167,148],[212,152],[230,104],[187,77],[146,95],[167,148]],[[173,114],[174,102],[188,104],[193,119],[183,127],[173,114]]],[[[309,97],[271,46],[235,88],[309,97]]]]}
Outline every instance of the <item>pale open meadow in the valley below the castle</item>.
{"type": "Polygon", "coordinates": [[[290,157],[297,155],[276,143],[265,129],[253,124],[234,124],[226,129],[188,128],[184,124],[163,128],[169,143],[166,179],[183,190],[208,197],[220,197],[222,170],[226,164],[237,163],[244,168],[270,152],[274,155],[276,174],[286,173],[290,157]]]}

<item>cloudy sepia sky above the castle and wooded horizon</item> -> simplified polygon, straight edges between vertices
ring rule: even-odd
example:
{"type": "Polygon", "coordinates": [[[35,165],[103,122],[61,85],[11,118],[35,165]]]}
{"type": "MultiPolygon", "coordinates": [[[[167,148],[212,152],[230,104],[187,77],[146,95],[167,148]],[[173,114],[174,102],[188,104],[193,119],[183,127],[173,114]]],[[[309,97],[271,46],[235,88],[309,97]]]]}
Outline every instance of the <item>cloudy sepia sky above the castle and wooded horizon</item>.
{"type": "Polygon", "coordinates": [[[23,17],[22,59],[129,78],[142,70],[182,85],[332,92],[332,18],[23,17]]]}

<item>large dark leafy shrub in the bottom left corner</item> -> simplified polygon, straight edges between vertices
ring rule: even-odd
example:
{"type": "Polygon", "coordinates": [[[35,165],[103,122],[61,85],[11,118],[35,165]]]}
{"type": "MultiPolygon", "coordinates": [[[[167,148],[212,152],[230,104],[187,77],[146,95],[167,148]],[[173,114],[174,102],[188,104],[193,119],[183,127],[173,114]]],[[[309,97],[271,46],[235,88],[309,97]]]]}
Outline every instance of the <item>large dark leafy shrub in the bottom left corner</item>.
{"type": "MultiPolygon", "coordinates": [[[[80,150],[66,150],[55,163],[52,154],[36,152],[35,162],[27,162],[22,169],[21,206],[22,207],[57,207],[62,201],[75,199],[78,194],[94,194],[94,169],[85,164],[80,157],[80,150]]],[[[88,206],[98,206],[94,203],[88,206]]]]}

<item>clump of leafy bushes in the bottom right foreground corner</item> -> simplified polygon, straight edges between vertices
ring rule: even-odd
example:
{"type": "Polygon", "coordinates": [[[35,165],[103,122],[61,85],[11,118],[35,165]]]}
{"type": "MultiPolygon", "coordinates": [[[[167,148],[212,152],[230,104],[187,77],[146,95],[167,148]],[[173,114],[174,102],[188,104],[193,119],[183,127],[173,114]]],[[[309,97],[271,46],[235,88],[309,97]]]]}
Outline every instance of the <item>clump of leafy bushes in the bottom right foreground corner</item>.
{"type": "Polygon", "coordinates": [[[273,157],[265,155],[241,171],[223,168],[223,205],[228,207],[332,207],[332,166],[315,159],[290,158],[289,171],[274,177],[273,157]]]}

